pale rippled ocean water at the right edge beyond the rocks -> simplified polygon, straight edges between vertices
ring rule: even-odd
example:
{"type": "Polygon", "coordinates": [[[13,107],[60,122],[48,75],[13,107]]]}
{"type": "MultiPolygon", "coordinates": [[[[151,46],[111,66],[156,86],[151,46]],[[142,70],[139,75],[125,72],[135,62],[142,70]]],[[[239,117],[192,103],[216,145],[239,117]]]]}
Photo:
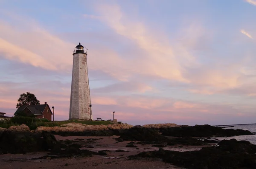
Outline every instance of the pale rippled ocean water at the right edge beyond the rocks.
{"type": "MultiPolygon", "coordinates": [[[[253,134],[256,134],[256,124],[239,124],[239,125],[228,125],[228,126],[219,126],[219,127],[227,127],[225,129],[242,129],[242,130],[249,130],[253,134]],[[229,127],[234,126],[234,127],[229,127]]],[[[256,135],[239,135],[239,136],[233,136],[233,137],[216,137],[219,140],[230,140],[232,138],[235,138],[238,141],[246,140],[250,141],[251,144],[256,144],[256,135]]],[[[215,138],[212,138],[215,139],[215,138]]]]}

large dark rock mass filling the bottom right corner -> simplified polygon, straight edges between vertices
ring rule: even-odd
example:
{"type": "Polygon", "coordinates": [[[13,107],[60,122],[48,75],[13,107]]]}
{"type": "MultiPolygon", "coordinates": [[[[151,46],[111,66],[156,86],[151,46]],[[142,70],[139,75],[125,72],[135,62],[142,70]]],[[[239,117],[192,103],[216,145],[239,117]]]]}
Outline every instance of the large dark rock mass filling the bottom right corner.
{"type": "Polygon", "coordinates": [[[217,147],[203,147],[199,151],[177,152],[159,148],[129,158],[161,158],[164,162],[187,169],[255,169],[256,145],[249,141],[223,140],[217,147]]]}

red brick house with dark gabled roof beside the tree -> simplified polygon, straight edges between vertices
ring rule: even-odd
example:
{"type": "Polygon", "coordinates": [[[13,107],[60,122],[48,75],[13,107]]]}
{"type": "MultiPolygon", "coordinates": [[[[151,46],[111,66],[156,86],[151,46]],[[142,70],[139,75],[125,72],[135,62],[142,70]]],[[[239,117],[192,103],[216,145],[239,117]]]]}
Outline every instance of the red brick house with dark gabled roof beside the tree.
{"type": "Polygon", "coordinates": [[[17,113],[24,113],[26,115],[35,115],[36,118],[47,118],[49,121],[52,121],[52,110],[49,107],[47,102],[39,105],[29,105],[29,106],[20,106],[14,115],[17,113]]]}

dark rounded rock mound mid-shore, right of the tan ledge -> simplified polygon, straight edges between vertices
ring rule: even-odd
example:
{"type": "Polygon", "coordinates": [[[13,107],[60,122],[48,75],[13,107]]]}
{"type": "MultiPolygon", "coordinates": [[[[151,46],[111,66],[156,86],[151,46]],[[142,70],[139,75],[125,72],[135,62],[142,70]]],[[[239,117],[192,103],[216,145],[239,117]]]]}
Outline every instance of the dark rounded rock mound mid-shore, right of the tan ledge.
{"type": "Polygon", "coordinates": [[[168,138],[160,135],[159,132],[152,128],[134,126],[124,132],[119,138],[125,141],[166,141],[168,138]]]}

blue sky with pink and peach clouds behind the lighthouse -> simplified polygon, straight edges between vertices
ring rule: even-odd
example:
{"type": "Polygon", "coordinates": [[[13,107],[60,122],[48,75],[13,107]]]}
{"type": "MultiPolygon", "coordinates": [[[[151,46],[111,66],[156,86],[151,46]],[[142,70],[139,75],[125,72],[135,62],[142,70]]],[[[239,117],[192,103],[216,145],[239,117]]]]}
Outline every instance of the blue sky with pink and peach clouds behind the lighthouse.
{"type": "Polygon", "coordinates": [[[256,0],[0,0],[0,112],[30,92],[67,120],[86,46],[93,118],[256,123],[256,0]]]}

